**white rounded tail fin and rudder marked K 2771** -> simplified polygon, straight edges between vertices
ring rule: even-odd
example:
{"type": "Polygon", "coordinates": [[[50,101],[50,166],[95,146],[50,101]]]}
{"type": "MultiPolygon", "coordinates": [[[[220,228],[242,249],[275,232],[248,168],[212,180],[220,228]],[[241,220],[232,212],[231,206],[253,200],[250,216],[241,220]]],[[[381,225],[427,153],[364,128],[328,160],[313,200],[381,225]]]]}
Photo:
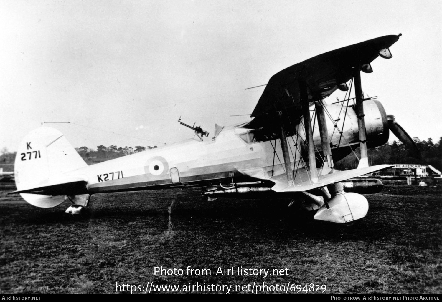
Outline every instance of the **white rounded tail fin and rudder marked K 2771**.
{"type": "Polygon", "coordinates": [[[62,193],[60,185],[78,185],[81,177],[63,179],[60,174],[87,166],[77,151],[57,129],[40,127],[31,131],[20,143],[15,157],[16,193],[28,203],[40,208],[61,204],[69,193],[62,193]],[[46,188],[46,189],[45,189],[46,188]],[[48,189],[50,188],[50,189],[48,189]],[[50,195],[42,195],[42,193],[50,195]]]}

